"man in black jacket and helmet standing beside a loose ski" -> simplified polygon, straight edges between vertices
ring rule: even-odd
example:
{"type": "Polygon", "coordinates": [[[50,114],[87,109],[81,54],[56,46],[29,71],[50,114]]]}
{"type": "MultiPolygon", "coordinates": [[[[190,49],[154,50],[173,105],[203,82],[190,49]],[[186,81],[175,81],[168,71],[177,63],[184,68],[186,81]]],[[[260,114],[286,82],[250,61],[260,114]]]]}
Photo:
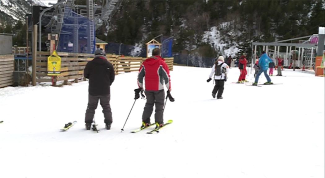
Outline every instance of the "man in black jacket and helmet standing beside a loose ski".
{"type": "Polygon", "coordinates": [[[110,85],[114,81],[115,73],[113,65],[107,61],[102,49],[95,51],[94,59],[89,61],[84,69],[84,76],[89,79],[88,106],[85,115],[86,129],[90,130],[98,100],[100,100],[105,127],[109,130],[113,122],[110,109],[110,85]]]}

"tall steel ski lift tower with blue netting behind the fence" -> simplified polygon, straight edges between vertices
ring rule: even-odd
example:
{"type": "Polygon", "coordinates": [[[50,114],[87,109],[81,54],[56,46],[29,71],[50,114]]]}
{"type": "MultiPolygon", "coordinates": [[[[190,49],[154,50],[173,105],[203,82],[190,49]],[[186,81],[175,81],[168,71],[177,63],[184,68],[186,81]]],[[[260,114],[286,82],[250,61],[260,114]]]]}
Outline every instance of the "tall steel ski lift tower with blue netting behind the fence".
{"type": "Polygon", "coordinates": [[[56,4],[52,4],[53,6],[39,10],[37,19],[39,51],[42,36],[46,36],[48,32],[59,34],[59,41],[56,42],[58,51],[94,53],[96,30],[104,21],[109,24],[111,17],[122,3],[121,0],[103,0],[101,4],[87,0],[86,5],[78,5],[75,2],[75,0],[58,0],[56,4]],[[43,34],[42,28],[46,31],[43,34]]]}

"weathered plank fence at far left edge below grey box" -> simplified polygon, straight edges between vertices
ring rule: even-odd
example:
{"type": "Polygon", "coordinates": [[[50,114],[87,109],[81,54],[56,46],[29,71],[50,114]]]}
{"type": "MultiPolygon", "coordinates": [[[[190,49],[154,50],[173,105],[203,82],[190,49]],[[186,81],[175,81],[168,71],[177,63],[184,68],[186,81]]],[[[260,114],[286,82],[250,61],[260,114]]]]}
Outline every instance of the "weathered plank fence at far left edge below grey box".
{"type": "Polygon", "coordinates": [[[0,55],[0,88],[14,84],[14,55],[0,55]]]}

